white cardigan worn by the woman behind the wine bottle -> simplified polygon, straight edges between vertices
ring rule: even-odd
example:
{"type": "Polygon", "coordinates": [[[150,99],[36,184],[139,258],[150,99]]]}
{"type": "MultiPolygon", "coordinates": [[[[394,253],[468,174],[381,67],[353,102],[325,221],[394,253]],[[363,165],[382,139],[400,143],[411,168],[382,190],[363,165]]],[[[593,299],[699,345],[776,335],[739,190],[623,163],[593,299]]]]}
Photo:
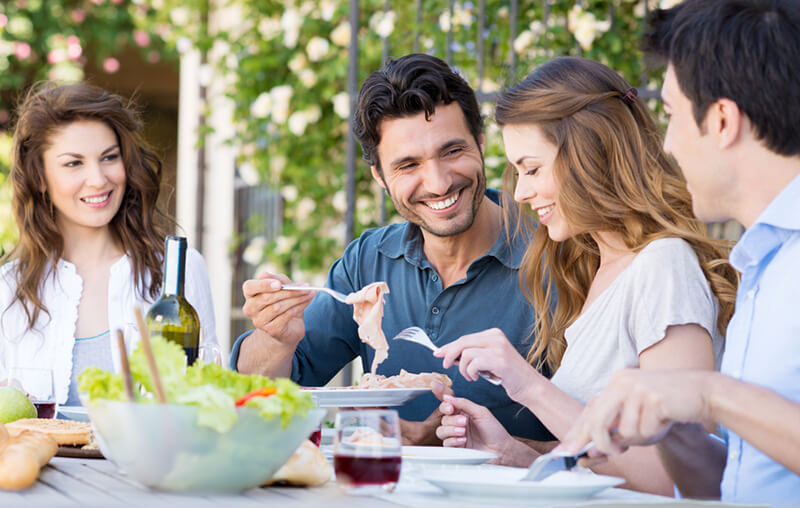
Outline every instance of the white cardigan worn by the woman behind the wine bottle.
{"type": "MultiPolygon", "coordinates": [[[[52,368],[56,400],[67,401],[72,375],[72,348],[75,344],[75,325],[78,304],[83,292],[83,279],[75,265],[58,262],[56,270],[45,277],[41,298],[49,316],[39,313],[33,330],[19,302],[9,308],[16,283],[12,275],[14,262],[0,267],[0,380],[6,379],[12,368],[52,368]]],[[[149,273],[145,277],[149,285],[149,273]]],[[[217,343],[214,306],[203,256],[195,249],[186,255],[186,299],[197,311],[203,330],[203,342],[217,343]]],[[[125,335],[125,348],[130,354],[139,338],[134,306],[146,313],[153,300],[136,290],[128,255],[111,266],[108,279],[108,329],[111,331],[111,359],[116,372],[120,370],[119,348],[115,330],[125,335]]]]}

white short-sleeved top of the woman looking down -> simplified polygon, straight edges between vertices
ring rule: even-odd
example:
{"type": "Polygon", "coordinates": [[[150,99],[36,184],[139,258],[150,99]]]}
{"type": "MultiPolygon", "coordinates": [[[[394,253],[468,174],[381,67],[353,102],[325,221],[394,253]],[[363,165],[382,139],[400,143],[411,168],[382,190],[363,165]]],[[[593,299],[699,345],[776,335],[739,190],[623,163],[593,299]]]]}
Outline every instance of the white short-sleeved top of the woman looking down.
{"type": "Polygon", "coordinates": [[[691,323],[711,335],[719,368],[724,339],[718,313],[691,246],[680,238],[654,240],[567,328],[567,349],[552,382],[585,404],[614,372],[638,367],[639,354],[662,340],[667,327],[691,323]]]}

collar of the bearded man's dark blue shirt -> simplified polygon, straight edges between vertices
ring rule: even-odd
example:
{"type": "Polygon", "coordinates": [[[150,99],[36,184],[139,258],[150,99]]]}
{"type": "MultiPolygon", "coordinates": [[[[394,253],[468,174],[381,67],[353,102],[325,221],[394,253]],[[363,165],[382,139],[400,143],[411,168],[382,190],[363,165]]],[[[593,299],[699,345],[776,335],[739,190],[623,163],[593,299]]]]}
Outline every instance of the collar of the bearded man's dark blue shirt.
{"type": "MultiPolygon", "coordinates": [[[[486,189],[486,196],[495,203],[500,204],[501,194],[499,191],[495,189],[486,189]]],[[[497,235],[497,240],[495,240],[494,245],[492,245],[492,248],[489,249],[489,252],[487,252],[485,256],[494,257],[506,267],[517,270],[525,254],[525,247],[528,239],[525,238],[523,234],[514,234],[513,225],[511,226],[510,233],[511,246],[506,241],[506,232],[503,228],[497,235]]],[[[378,244],[378,251],[393,259],[405,256],[408,262],[418,268],[424,268],[425,265],[429,265],[428,260],[425,258],[425,251],[423,250],[422,231],[419,226],[411,222],[406,222],[403,225],[401,234],[384,236],[378,244]]]]}

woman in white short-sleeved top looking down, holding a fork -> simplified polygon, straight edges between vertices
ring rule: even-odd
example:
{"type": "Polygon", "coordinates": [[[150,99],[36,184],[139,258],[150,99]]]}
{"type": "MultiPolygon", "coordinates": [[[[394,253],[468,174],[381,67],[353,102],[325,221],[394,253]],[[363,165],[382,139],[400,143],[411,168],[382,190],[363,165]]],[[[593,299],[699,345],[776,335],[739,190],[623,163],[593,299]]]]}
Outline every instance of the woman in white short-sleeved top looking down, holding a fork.
{"type": "MultiPolygon", "coordinates": [[[[559,58],[500,94],[496,119],[507,187],[522,205],[508,213],[530,224],[530,207],[539,222],[520,270],[535,340],[526,362],[497,329],[468,335],[440,349],[444,366],[460,359],[468,379],[501,378],[559,438],[617,370],[718,366],[737,285],[729,245],[693,215],[636,90],[600,63],[559,58]],[[531,364],[555,374],[548,380],[531,364]]],[[[446,446],[490,449],[517,465],[536,456],[485,408],[449,398],[441,409],[446,446]]],[[[594,469],[672,494],[654,447],[594,469]]]]}

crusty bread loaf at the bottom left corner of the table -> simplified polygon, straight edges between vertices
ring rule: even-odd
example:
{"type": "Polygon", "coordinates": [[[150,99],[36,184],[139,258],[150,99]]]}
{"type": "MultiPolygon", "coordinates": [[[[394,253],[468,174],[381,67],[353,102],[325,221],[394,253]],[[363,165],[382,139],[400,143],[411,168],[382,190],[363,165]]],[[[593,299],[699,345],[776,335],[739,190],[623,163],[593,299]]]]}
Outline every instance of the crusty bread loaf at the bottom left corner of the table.
{"type": "Polygon", "coordinates": [[[22,490],[33,485],[56,451],[55,440],[41,432],[25,430],[9,436],[0,424],[0,489],[22,490]]]}

